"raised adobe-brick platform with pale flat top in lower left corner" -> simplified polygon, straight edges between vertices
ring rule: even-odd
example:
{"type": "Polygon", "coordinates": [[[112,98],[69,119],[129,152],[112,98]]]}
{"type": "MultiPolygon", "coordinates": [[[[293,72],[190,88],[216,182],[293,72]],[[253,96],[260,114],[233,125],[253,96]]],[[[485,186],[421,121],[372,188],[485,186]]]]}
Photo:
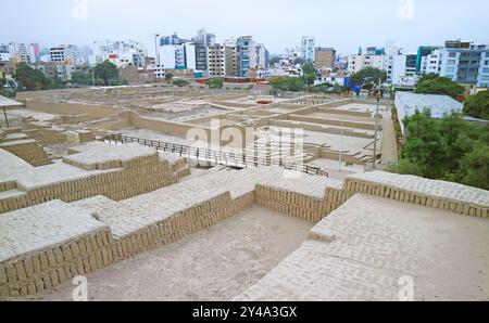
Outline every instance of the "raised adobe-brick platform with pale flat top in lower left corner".
{"type": "Polygon", "coordinates": [[[109,227],[62,202],[0,216],[0,296],[50,290],[112,263],[109,227]]]}

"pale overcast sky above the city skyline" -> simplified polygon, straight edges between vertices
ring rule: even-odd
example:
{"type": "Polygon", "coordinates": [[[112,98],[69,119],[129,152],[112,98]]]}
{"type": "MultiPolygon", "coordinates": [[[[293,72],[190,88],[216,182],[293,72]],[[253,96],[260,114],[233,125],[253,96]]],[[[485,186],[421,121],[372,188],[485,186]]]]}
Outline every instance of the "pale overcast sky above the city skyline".
{"type": "Polygon", "coordinates": [[[409,51],[448,39],[489,42],[488,0],[0,0],[0,42],[41,47],[131,38],[151,49],[154,33],[190,38],[201,27],[218,41],[252,35],[272,53],[303,35],[341,54],[387,40],[409,51]]]}

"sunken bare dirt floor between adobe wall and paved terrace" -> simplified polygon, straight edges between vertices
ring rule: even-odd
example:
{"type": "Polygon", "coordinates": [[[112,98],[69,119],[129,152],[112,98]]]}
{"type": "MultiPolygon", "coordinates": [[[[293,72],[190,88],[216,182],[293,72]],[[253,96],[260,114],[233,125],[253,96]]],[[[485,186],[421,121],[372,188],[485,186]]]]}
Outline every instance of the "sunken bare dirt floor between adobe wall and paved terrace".
{"type": "MultiPolygon", "coordinates": [[[[253,206],[206,231],[89,274],[89,300],[230,300],[294,251],[312,227],[253,206]]],[[[65,284],[28,300],[71,300],[74,287],[65,284]]]]}

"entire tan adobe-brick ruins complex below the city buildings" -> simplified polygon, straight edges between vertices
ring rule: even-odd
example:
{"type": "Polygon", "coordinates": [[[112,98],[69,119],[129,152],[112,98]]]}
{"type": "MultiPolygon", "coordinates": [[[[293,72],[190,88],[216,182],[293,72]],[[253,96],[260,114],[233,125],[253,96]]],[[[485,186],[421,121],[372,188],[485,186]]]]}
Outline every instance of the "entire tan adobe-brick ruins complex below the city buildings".
{"type": "Polygon", "coordinates": [[[0,300],[72,300],[78,276],[89,300],[489,300],[489,192],[385,171],[387,101],[127,86],[0,106],[0,300]]]}

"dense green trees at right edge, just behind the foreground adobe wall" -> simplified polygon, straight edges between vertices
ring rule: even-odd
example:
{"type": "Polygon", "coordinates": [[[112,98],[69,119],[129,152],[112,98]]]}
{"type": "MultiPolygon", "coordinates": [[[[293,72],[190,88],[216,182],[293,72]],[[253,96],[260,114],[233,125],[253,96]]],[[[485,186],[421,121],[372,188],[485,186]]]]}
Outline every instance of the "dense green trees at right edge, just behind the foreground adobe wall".
{"type": "Polygon", "coordinates": [[[456,114],[434,119],[429,109],[416,112],[404,125],[401,159],[388,171],[489,190],[489,127],[456,114]]]}

